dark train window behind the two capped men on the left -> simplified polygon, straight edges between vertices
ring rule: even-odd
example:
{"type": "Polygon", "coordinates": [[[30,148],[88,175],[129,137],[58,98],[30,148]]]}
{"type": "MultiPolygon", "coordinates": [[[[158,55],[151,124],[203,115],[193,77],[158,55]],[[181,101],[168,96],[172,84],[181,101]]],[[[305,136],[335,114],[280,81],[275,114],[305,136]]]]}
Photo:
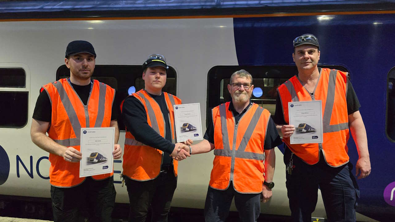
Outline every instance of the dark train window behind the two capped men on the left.
{"type": "MultiPolygon", "coordinates": [[[[115,88],[114,105],[119,107],[122,100],[129,94],[137,92],[144,88],[144,80],[141,77],[143,71],[141,66],[127,66],[127,65],[96,65],[92,79],[105,83],[112,88],[115,88]]],[[[163,88],[165,92],[176,95],[176,71],[169,66],[167,73],[166,85],[163,88]]],[[[66,65],[62,65],[56,71],[56,79],[70,77],[70,70],[66,65]]],[[[118,110],[118,125],[119,130],[125,130],[120,109],[118,110]]]]}

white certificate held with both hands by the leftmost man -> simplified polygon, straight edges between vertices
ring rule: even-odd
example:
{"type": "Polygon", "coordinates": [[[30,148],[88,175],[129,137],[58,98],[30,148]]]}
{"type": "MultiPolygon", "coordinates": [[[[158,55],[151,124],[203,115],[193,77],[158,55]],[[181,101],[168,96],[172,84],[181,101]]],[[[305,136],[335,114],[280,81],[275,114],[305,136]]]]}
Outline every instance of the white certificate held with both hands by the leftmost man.
{"type": "Polygon", "coordinates": [[[81,128],[79,177],[113,172],[114,127],[81,128]]]}

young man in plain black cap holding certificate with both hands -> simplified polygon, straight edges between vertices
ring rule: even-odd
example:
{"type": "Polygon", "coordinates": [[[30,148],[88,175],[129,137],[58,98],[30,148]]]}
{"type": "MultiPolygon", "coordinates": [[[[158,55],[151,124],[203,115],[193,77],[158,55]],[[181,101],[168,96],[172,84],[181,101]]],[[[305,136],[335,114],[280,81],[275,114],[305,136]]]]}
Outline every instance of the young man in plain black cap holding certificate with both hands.
{"type": "MultiPolygon", "coordinates": [[[[79,151],[81,128],[85,127],[115,127],[118,142],[115,90],[90,78],[96,53],[89,42],[70,42],[65,57],[70,78],[43,85],[30,134],[38,147],[49,152],[54,220],[78,221],[79,211],[87,206],[89,221],[111,222],[116,195],[113,173],[80,178],[79,151]]],[[[121,154],[120,145],[115,144],[114,159],[121,154]]]]}

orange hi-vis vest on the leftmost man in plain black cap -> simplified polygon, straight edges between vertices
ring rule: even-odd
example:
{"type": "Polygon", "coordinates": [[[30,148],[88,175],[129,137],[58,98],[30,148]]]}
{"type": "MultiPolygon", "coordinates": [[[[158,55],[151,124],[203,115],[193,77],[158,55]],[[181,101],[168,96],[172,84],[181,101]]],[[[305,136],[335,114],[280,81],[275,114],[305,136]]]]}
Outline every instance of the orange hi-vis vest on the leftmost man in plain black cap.
{"type": "MultiPolygon", "coordinates": [[[[87,105],[83,104],[67,79],[48,83],[43,88],[52,105],[51,125],[47,133],[56,143],[80,151],[81,128],[110,126],[115,90],[108,85],[94,80],[87,105]]],[[[85,180],[85,177],[79,177],[79,162],[67,162],[62,156],[52,153],[49,161],[49,181],[53,186],[72,187],[85,180]]],[[[112,175],[106,173],[92,178],[102,180],[112,175]]]]}

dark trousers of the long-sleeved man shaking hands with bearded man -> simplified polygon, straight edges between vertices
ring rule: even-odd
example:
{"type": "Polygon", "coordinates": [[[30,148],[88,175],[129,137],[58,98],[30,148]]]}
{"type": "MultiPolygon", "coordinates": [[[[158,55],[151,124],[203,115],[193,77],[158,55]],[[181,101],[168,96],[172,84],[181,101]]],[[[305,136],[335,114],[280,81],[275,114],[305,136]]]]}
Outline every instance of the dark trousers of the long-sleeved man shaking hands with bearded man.
{"type": "Polygon", "coordinates": [[[125,182],[130,201],[129,222],[145,222],[149,208],[152,222],[167,222],[171,199],[177,187],[173,166],[153,180],[135,181],[126,177],[125,182]]]}

